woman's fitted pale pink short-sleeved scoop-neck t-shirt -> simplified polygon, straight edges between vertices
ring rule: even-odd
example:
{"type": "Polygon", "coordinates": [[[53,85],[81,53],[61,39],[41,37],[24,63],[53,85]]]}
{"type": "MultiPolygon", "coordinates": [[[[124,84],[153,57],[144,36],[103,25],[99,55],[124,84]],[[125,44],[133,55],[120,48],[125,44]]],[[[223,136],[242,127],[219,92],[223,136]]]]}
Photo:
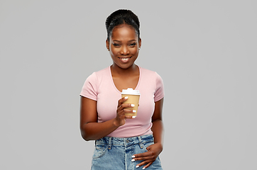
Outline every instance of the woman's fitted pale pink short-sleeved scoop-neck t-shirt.
{"type": "MultiPolygon", "coordinates": [[[[156,72],[141,67],[139,70],[140,76],[135,89],[141,94],[138,114],[134,119],[127,119],[125,125],[111,132],[109,137],[133,137],[153,133],[151,118],[155,101],[164,97],[163,80],[156,72]]],[[[84,82],[80,95],[97,101],[99,123],[116,118],[121,91],[114,85],[110,67],[91,74],[84,82]]]]}

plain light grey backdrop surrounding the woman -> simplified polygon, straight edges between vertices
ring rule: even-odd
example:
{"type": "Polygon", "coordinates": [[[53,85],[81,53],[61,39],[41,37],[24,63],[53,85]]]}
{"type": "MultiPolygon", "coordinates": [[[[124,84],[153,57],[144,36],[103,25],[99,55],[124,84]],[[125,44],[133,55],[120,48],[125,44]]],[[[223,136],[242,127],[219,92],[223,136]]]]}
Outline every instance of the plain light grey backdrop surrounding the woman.
{"type": "MultiPolygon", "coordinates": [[[[257,169],[257,3],[0,0],[0,169],[90,169],[84,80],[111,65],[106,17],[141,21],[136,63],[165,83],[164,169],[257,169]]],[[[115,160],[114,160],[115,161],[115,160]]]]}

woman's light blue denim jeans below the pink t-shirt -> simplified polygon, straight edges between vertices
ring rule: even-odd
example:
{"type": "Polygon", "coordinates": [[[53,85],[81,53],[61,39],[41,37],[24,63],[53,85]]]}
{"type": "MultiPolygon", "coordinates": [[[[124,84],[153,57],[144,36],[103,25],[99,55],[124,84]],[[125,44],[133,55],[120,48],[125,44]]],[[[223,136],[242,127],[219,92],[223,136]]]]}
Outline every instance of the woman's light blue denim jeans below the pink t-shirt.
{"type": "MultiPolygon", "coordinates": [[[[146,147],[153,145],[153,135],[143,135],[138,137],[103,137],[96,140],[94,155],[92,159],[92,170],[138,170],[136,165],[143,161],[131,162],[133,154],[147,152],[146,147]]],[[[146,170],[162,170],[160,159],[146,170]]]]}

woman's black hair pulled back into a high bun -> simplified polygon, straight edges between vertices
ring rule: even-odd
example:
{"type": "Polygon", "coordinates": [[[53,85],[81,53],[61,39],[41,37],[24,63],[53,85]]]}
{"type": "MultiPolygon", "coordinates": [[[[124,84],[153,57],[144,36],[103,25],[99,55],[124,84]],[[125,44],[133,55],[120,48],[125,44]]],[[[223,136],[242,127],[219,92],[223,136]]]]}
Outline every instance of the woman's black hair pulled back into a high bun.
{"type": "Polygon", "coordinates": [[[115,26],[119,26],[121,24],[128,24],[129,26],[132,26],[136,34],[138,35],[138,38],[140,38],[140,31],[139,31],[139,20],[138,16],[136,16],[135,13],[128,9],[119,9],[117,11],[114,11],[111,13],[110,16],[106,18],[105,26],[107,30],[107,40],[109,41],[109,38],[111,36],[112,30],[115,26]]]}

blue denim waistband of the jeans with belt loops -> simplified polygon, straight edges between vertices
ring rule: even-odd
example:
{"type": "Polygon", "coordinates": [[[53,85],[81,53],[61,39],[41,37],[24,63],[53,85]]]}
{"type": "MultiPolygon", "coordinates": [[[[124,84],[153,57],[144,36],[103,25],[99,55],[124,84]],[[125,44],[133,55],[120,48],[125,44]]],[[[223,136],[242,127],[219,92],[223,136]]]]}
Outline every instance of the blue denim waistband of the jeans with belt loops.
{"type": "Polygon", "coordinates": [[[153,134],[137,137],[103,137],[95,141],[96,145],[128,146],[141,143],[153,142],[153,134]]]}

